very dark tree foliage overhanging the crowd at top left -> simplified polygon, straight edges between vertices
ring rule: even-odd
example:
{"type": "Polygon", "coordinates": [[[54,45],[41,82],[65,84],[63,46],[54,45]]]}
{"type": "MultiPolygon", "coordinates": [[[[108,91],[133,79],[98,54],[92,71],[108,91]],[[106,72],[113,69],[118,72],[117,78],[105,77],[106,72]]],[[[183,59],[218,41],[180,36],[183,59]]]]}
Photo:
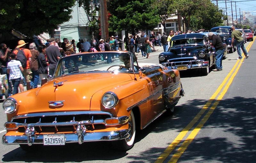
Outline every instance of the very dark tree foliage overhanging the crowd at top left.
{"type": "MultiPolygon", "coordinates": [[[[1,1],[1,3],[8,4],[0,10],[5,11],[2,12],[5,14],[5,19],[1,19],[1,29],[11,30],[13,28],[30,37],[49,32],[53,37],[54,29],[72,18],[70,14],[75,2],[75,0],[19,0],[13,3],[10,3],[10,0],[1,1]],[[10,11],[8,7],[14,10],[10,11]],[[2,22],[10,19],[12,20],[8,25],[2,25],[2,22]]],[[[2,7],[0,4],[0,8],[2,7]]]]}

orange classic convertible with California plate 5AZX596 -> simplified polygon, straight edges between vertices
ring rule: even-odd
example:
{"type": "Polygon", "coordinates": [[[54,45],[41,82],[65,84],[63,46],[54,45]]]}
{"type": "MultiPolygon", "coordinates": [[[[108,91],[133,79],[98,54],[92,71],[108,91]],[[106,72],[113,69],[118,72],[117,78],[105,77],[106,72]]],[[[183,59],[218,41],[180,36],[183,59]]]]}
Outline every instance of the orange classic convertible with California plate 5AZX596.
{"type": "Polygon", "coordinates": [[[42,87],[4,101],[3,144],[20,144],[28,151],[42,145],[111,141],[115,149],[127,151],[135,130],[172,113],[181,96],[178,70],[138,64],[130,52],[69,55],[59,60],[54,76],[42,87]]]}

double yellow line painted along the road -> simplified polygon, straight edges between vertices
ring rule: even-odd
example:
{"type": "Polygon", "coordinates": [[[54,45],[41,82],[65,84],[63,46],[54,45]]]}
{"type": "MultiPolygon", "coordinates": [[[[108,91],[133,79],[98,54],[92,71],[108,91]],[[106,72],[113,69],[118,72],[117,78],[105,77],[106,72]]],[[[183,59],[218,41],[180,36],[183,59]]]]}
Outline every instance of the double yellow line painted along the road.
{"type": "MultiPolygon", "coordinates": [[[[253,42],[254,41],[250,42],[249,45],[247,46],[247,48],[246,48],[247,52],[251,48],[253,42]]],[[[213,93],[212,97],[206,102],[206,104],[199,111],[199,113],[194,117],[194,119],[190,121],[190,123],[180,132],[180,134],[173,140],[173,142],[156,159],[155,163],[162,163],[162,162],[164,162],[164,160],[171,154],[171,152],[180,143],[180,141],[183,140],[184,136],[188,133],[188,131],[190,131],[191,128],[196,124],[196,122],[198,122],[200,120],[199,123],[196,125],[196,127],[194,129],[192,129],[192,131],[190,132],[188,137],[180,145],[180,147],[178,148],[177,152],[173,154],[172,158],[168,162],[172,162],[173,163],[173,162],[177,162],[178,161],[180,156],[187,149],[188,145],[192,142],[192,140],[196,137],[196,135],[199,132],[199,130],[204,126],[204,123],[209,119],[209,117],[211,116],[212,112],[214,111],[214,109],[219,104],[220,100],[223,98],[223,96],[227,92],[228,87],[230,86],[230,84],[232,83],[234,77],[236,76],[236,74],[237,74],[237,72],[238,72],[238,70],[239,70],[243,60],[244,60],[244,58],[242,58],[241,60],[239,59],[239,60],[236,61],[235,66],[233,66],[233,68],[228,73],[228,75],[223,80],[223,82],[220,84],[218,89],[213,93]],[[221,90],[222,90],[222,92],[220,93],[221,90]],[[217,97],[217,99],[215,99],[216,97],[217,97]],[[208,111],[208,112],[204,115],[204,117],[202,117],[205,111],[208,111]]]]}

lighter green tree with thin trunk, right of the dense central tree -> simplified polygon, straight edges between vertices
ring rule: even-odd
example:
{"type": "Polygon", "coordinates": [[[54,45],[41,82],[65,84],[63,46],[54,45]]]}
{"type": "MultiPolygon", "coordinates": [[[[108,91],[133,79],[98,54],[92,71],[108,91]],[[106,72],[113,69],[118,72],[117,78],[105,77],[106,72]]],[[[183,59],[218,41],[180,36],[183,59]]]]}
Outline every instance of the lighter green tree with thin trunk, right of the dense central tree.
{"type": "Polygon", "coordinates": [[[156,2],[152,4],[153,8],[155,8],[156,13],[160,18],[161,24],[164,26],[164,31],[166,31],[166,19],[171,17],[171,14],[175,14],[176,12],[173,3],[173,0],[156,0],[156,2]]]}

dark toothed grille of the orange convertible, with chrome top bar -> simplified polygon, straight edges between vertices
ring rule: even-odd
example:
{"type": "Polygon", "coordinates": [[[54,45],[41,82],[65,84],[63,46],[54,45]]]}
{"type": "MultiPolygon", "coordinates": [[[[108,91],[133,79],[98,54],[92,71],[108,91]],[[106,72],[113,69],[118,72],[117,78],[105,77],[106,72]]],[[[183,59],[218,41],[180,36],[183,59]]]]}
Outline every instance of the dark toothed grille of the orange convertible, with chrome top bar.
{"type": "Polygon", "coordinates": [[[113,117],[107,112],[55,112],[27,114],[17,116],[12,119],[19,128],[19,132],[25,132],[28,125],[34,125],[37,133],[44,132],[75,132],[76,122],[83,121],[87,130],[104,129],[106,125],[104,120],[113,117]],[[45,126],[45,124],[52,124],[45,126]]]}

